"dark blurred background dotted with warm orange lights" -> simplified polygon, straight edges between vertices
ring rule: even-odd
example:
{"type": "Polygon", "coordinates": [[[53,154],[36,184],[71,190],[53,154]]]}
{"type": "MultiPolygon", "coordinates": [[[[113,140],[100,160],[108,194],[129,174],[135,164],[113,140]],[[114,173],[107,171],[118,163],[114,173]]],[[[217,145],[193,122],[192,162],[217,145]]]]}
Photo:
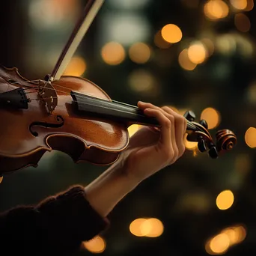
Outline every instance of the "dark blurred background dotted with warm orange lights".
{"type": "MultiPolygon", "coordinates": [[[[43,79],[85,4],[2,1],[1,64],[43,79]]],[[[109,230],[84,243],[80,255],[255,254],[255,17],[253,0],[103,4],[65,74],[90,79],[124,103],[143,100],[182,114],[192,109],[213,136],[231,129],[238,141],[216,160],[187,141],[183,158],[127,195],[109,215],[109,230]]],[[[129,127],[129,135],[139,128],[129,127]]],[[[46,153],[38,168],[4,177],[0,210],[86,186],[104,170],[46,153]]]]}

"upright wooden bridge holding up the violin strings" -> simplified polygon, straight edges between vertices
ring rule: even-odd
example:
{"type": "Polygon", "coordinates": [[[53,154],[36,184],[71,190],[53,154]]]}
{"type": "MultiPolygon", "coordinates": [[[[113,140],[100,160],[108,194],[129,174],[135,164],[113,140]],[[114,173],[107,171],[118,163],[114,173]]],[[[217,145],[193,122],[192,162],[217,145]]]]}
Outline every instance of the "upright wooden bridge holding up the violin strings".
{"type": "Polygon", "coordinates": [[[51,82],[40,80],[38,85],[38,95],[44,101],[47,112],[52,114],[55,107],[58,105],[58,96],[51,82]]]}

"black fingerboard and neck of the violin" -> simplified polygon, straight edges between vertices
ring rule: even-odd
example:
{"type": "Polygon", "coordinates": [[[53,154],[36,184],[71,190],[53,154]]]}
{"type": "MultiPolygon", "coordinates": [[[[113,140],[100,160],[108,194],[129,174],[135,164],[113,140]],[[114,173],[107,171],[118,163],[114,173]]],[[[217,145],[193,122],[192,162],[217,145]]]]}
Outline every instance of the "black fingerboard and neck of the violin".
{"type": "MultiPolygon", "coordinates": [[[[131,124],[141,124],[159,127],[159,122],[156,118],[147,117],[144,115],[144,112],[136,106],[114,100],[102,100],[76,91],[71,91],[70,95],[73,98],[73,104],[76,106],[77,111],[84,112],[86,115],[111,119],[127,124],[127,126],[131,124]]],[[[191,127],[191,124],[188,121],[187,128],[189,129],[189,127],[191,127]]]]}

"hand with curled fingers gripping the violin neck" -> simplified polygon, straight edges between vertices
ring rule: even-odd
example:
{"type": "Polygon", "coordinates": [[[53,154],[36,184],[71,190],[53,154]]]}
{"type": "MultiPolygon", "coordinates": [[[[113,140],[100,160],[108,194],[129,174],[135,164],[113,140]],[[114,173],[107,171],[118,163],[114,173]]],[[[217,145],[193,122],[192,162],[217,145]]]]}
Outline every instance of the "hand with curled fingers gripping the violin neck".
{"type": "Polygon", "coordinates": [[[141,181],[171,165],[185,151],[186,118],[164,106],[138,102],[138,108],[148,117],[156,118],[159,129],[142,127],[130,138],[129,146],[121,153],[125,174],[141,181]]]}

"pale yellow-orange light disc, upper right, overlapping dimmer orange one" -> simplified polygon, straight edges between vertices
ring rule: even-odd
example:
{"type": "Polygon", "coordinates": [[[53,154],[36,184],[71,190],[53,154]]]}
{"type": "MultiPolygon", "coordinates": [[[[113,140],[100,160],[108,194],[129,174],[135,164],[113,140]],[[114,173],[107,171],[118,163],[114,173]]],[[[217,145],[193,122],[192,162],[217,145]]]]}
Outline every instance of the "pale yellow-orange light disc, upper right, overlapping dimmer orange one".
{"type": "Polygon", "coordinates": [[[189,60],[195,64],[201,64],[207,57],[207,49],[201,42],[193,42],[188,49],[189,60]]]}

